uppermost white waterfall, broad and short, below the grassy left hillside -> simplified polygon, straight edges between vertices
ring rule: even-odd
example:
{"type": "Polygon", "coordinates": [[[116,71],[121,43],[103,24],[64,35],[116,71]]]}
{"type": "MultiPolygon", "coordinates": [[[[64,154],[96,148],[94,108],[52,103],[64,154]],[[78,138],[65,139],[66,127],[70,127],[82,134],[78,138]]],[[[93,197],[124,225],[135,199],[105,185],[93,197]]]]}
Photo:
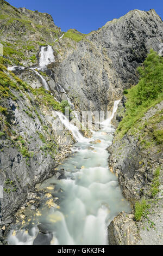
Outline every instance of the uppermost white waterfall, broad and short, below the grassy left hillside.
{"type": "Polygon", "coordinates": [[[52,46],[41,46],[39,67],[43,68],[52,62],[55,62],[52,46]]]}

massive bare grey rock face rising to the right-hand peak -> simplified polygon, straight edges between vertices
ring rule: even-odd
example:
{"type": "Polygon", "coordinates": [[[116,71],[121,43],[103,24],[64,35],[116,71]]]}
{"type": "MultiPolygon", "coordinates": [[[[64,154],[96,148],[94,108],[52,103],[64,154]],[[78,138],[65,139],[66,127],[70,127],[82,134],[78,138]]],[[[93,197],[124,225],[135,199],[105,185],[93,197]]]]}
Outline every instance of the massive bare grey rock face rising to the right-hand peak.
{"type": "Polygon", "coordinates": [[[110,109],[124,88],[137,83],[136,68],[149,50],[159,51],[162,32],[162,20],[153,9],[109,21],[58,64],[58,82],[80,109],[110,109]]]}

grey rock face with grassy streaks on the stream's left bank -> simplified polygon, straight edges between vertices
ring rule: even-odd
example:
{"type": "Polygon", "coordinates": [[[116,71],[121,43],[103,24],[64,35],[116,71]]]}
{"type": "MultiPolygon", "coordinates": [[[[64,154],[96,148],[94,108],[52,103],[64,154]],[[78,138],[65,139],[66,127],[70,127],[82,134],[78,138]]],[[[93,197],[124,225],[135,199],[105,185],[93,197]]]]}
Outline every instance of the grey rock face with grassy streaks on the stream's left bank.
{"type": "MultiPolygon", "coordinates": [[[[27,193],[34,190],[36,183],[55,174],[58,159],[67,154],[66,147],[74,143],[71,134],[62,129],[54,110],[40,108],[32,93],[28,94],[29,98],[15,90],[12,93],[17,97],[16,102],[11,99],[3,102],[9,111],[6,118],[10,129],[1,122],[1,129],[7,129],[8,133],[0,138],[2,224],[24,203],[27,193]],[[48,150],[48,145],[56,147],[56,151],[48,150]]],[[[2,114],[0,116],[4,118],[2,114]]]]}

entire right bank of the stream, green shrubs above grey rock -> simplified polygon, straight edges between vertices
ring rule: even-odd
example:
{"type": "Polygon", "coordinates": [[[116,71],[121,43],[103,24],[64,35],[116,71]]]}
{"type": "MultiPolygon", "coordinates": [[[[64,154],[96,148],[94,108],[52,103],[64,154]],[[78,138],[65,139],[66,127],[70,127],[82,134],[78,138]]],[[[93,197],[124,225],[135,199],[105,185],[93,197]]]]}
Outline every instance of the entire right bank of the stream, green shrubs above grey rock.
{"type": "Polygon", "coordinates": [[[111,245],[163,244],[162,57],[151,51],[139,70],[139,84],[124,91],[108,148],[110,170],[133,209],[111,223],[111,245]]]}

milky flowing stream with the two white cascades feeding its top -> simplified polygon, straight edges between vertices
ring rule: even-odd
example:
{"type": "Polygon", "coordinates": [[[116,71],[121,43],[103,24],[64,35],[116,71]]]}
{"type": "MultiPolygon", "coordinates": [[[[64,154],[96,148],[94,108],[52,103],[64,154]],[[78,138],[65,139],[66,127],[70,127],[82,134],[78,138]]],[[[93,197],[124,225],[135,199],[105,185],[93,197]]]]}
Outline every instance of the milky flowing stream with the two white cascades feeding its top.
{"type": "Polygon", "coordinates": [[[25,227],[18,224],[11,230],[10,245],[33,245],[39,234],[37,224],[42,223],[49,231],[45,238],[51,245],[107,245],[107,227],[121,211],[129,211],[129,203],[123,198],[117,177],[108,167],[109,153],[114,128],[111,118],[114,116],[118,101],[114,104],[112,116],[102,123],[102,129],[93,133],[91,139],[68,123],[66,117],[58,112],[62,123],[71,130],[78,141],[73,154],[60,165],[64,177],[49,178],[40,185],[40,189],[49,189],[58,204],[40,206],[39,211],[25,227]]]}

